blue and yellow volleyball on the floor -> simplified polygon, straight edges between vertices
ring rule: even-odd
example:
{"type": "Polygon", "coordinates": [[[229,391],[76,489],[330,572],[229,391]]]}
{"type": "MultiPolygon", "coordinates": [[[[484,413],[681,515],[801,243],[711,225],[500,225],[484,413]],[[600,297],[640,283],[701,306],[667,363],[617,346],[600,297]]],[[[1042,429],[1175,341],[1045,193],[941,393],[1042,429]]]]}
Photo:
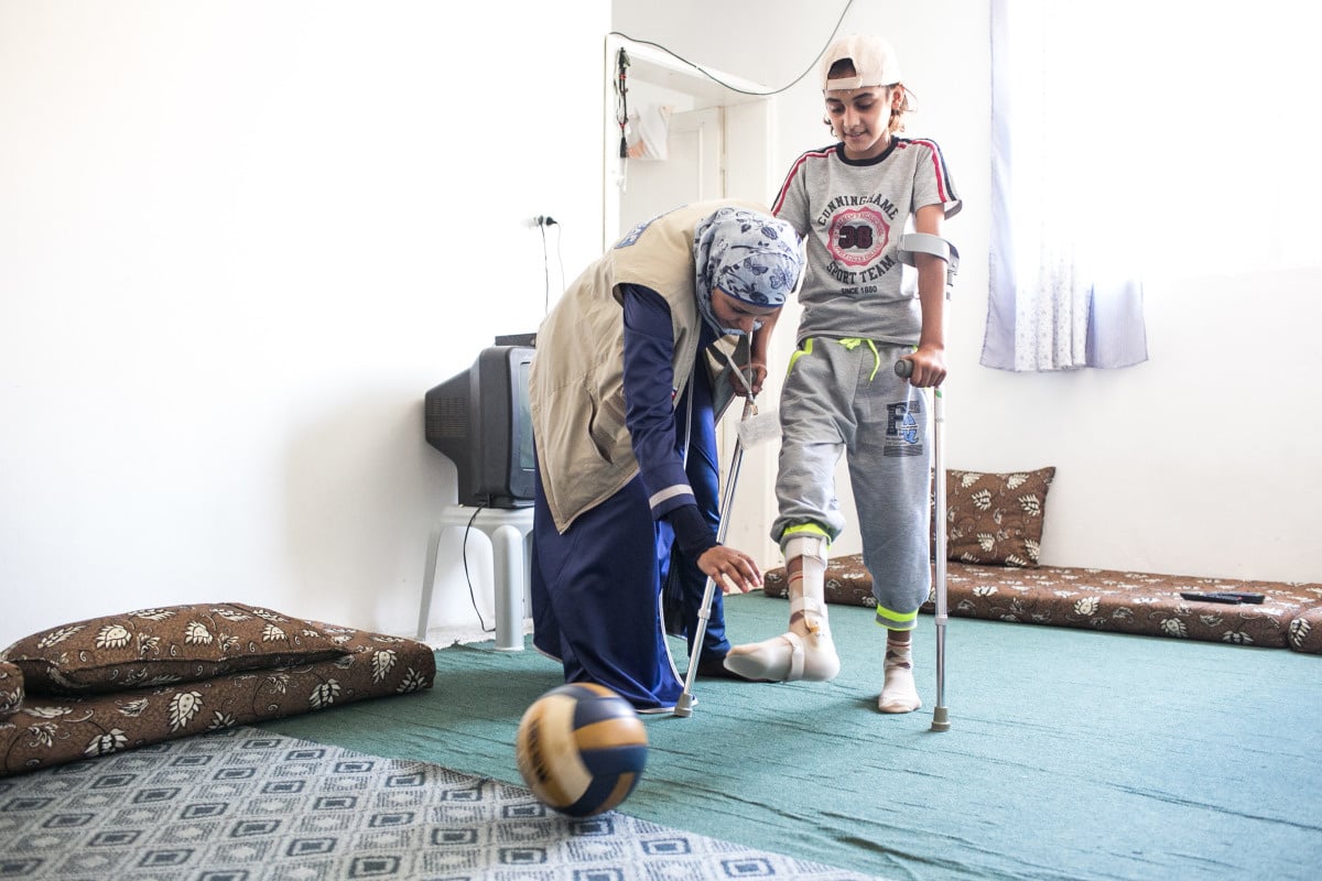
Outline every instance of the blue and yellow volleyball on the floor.
{"type": "Polygon", "coordinates": [[[648,732],[629,701],[605,686],[546,692],[518,722],[518,773],[543,804],[568,816],[620,806],[648,762],[648,732]]]}

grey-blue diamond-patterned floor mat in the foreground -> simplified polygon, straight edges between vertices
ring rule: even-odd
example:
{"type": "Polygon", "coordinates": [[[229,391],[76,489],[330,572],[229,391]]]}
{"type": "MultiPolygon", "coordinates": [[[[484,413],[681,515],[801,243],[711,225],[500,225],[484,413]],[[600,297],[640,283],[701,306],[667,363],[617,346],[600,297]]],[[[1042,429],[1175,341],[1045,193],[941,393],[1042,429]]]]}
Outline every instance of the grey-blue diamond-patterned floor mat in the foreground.
{"type": "Polygon", "coordinates": [[[254,728],[0,778],[0,841],[24,880],[869,877],[254,728]]]}

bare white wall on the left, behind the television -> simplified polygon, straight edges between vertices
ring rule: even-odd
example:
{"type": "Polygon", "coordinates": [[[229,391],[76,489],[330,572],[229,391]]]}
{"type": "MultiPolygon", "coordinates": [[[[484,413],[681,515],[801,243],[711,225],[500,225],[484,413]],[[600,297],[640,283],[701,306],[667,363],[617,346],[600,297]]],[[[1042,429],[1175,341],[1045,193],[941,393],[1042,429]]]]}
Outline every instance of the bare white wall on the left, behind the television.
{"type": "Polygon", "coordinates": [[[177,602],[414,631],[422,396],[537,326],[534,215],[553,299],[596,256],[608,25],[0,0],[0,646],[177,602]]]}

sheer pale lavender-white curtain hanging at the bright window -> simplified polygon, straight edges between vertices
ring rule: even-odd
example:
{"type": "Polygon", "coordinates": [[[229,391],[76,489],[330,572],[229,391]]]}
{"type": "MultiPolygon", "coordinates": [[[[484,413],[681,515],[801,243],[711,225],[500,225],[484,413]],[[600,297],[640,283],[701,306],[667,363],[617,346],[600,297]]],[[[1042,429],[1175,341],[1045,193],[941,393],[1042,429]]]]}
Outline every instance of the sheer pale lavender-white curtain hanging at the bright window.
{"type": "MultiPolygon", "coordinates": [[[[1081,50],[1087,28],[1072,7],[992,3],[992,277],[981,358],[989,367],[1147,359],[1140,260],[1114,227],[1122,218],[1110,188],[1126,181],[1107,125],[1120,99],[1100,87],[1101,78],[1112,86],[1120,78],[1099,75],[1104,69],[1081,50]]],[[[1112,63],[1114,50],[1104,53],[1112,63]]]]}

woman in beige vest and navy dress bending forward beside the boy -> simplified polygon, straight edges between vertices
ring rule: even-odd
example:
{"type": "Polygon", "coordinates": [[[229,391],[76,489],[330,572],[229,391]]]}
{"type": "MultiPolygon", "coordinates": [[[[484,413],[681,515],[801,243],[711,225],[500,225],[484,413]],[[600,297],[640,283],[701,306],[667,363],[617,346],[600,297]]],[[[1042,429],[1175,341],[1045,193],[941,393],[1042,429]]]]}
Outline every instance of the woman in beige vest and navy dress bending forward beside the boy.
{"type": "MultiPolygon", "coordinates": [[[[717,542],[715,420],[760,388],[765,353],[748,341],[801,272],[788,223],[743,202],[689,205],[631,230],[538,329],[533,643],[564,682],[670,712],[683,682],[661,621],[666,576],[690,642],[709,576],[761,585],[752,557],[717,542]]],[[[698,675],[738,678],[728,650],[717,593],[698,675]]]]}

